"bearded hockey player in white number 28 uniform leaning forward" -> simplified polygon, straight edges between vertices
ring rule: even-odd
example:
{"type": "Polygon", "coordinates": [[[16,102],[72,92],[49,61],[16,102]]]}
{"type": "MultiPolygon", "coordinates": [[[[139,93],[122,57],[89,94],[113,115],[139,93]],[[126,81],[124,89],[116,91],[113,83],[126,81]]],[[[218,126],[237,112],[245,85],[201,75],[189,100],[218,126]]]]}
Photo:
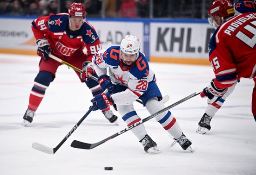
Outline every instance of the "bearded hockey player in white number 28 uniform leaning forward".
{"type": "MultiPolygon", "coordinates": [[[[140,41],[132,35],[125,36],[121,46],[111,46],[99,50],[92,58],[92,65],[99,76],[99,83],[103,91],[97,95],[94,110],[114,105],[125,123],[130,126],[141,121],[137,115],[133,102],[142,100],[150,114],[156,113],[165,106],[162,103],[162,94],[156,85],[155,74],[149,69],[148,61],[140,51],[140,41]],[[107,75],[108,68],[108,75],[107,75]]],[[[183,134],[178,122],[170,111],[161,113],[155,119],[179,143],[183,150],[190,150],[191,141],[183,134]]],[[[159,153],[157,144],[148,136],[143,124],[131,130],[144,147],[147,153],[159,153]]]]}

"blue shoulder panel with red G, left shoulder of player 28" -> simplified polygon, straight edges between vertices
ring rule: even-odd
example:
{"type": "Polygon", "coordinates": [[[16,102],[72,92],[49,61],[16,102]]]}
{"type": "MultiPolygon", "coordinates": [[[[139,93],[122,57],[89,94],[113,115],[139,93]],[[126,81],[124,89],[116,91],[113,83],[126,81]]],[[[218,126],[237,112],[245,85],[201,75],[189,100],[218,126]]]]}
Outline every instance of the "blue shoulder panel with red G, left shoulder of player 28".
{"type": "Polygon", "coordinates": [[[103,60],[111,66],[118,66],[120,64],[119,51],[120,46],[111,46],[103,53],[103,60]]]}

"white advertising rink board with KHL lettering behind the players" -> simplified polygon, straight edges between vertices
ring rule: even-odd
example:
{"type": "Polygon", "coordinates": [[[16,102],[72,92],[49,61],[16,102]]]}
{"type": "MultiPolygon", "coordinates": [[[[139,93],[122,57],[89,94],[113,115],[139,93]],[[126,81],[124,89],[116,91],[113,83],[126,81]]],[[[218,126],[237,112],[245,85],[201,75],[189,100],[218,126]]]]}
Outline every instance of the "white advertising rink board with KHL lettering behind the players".
{"type": "MultiPolygon", "coordinates": [[[[35,17],[34,17],[35,18],[35,17]]],[[[33,17],[0,16],[0,53],[35,55],[33,17]],[[19,26],[19,27],[17,27],[19,26]]],[[[148,60],[160,63],[207,64],[208,43],[215,31],[205,20],[88,19],[102,48],[119,45],[127,35],[141,40],[148,60]]]]}

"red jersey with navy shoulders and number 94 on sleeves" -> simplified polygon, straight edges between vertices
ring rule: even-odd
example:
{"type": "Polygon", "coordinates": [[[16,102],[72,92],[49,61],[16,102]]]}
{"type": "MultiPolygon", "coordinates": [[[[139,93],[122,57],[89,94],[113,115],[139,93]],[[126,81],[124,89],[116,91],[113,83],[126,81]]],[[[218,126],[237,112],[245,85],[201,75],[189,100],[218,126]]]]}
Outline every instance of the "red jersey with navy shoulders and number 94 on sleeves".
{"type": "Polygon", "coordinates": [[[92,56],[101,49],[101,42],[94,27],[84,21],[81,28],[72,33],[68,25],[67,13],[50,14],[35,19],[32,22],[32,31],[36,40],[47,38],[54,55],[63,58],[83,52],[87,60],[91,61],[92,56]]]}

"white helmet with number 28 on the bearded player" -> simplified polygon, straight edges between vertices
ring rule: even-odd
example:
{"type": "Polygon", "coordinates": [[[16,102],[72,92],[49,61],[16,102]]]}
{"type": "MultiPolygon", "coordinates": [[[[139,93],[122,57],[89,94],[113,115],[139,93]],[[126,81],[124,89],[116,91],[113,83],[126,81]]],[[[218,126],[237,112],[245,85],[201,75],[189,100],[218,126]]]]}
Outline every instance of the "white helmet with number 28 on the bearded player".
{"type": "MultiPolygon", "coordinates": [[[[137,59],[139,56],[140,50],[141,50],[141,42],[139,41],[138,37],[133,35],[126,35],[122,39],[121,45],[120,45],[120,53],[123,52],[126,54],[137,54],[136,55],[136,59],[137,59]]],[[[121,55],[121,59],[123,59],[122,54],[120,55],[121,55]]]]}

